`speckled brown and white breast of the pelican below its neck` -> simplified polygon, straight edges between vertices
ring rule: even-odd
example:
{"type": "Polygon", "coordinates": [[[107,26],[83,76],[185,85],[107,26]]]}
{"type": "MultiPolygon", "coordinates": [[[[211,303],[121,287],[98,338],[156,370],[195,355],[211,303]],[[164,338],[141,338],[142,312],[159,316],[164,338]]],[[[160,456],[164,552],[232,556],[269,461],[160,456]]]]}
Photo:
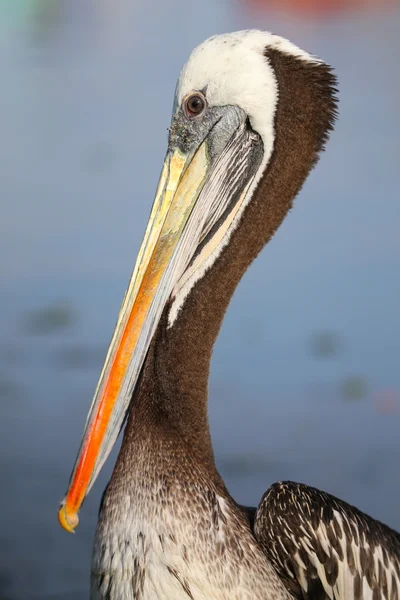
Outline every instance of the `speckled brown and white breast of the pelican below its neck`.
{"type": "Polygon", "coordinates": [[[104,497],[91,597],[289,600],[219,476],[165,431],[137,442],[130,477],[117,470],[104,497]]]}

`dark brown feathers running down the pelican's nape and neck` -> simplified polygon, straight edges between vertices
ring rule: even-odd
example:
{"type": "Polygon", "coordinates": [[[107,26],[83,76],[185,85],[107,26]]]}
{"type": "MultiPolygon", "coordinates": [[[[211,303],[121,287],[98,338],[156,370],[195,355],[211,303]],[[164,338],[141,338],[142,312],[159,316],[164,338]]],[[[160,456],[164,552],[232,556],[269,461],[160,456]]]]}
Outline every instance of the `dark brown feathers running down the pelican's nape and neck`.
{"type": "Polygon", "coordinates": [[[279,90],[271,159],[229,244],[195,284],[170,328],[166,307],[133,400],[132,427],[146,414],[176,431],[202,460],[213,460],[207,386],[224,314],[242,275],[292,207],[336,116],[335,77],[327,65],[271,49],[265,57],[279,90]]]}

